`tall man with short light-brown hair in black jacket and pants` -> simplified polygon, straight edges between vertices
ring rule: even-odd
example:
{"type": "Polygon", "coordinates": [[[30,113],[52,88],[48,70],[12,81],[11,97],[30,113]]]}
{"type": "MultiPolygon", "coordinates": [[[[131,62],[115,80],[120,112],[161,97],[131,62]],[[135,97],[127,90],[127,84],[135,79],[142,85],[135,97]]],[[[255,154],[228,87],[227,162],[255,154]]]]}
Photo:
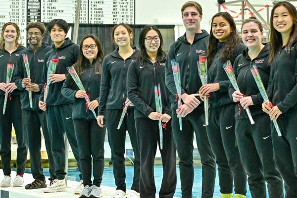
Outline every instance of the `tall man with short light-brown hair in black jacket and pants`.
{"type": "Polygon", "coordinates": [[[166,86],[172,96],[177,91],[174,84],[171,60],[180,64],[181,88],[183,104],[177,109],[177,102],[172,108],[172,131],[176,149],[179,156],[179,168],[182,187],[182,197],[191,198],[194,181],[193,166],[193,139],[196,134],[198,151],[202,163],[202,194],[201,198],[212,198],[214,191],[216,166],[211,151],[205,123],[204,108],[198,100],[198,91],[201,81],[198,75],[197,61],[199,55],[205,53],[209,34],[200,29],[202,8],[196,1],[188,1],[182,6],[182,18],[186,33],[174,42],[166,60],[166,86]],[[199,105],[200,104],[200,105],[199,105]],[[183,130],[179,129],[179,119],[182,116],[183,130]]]}

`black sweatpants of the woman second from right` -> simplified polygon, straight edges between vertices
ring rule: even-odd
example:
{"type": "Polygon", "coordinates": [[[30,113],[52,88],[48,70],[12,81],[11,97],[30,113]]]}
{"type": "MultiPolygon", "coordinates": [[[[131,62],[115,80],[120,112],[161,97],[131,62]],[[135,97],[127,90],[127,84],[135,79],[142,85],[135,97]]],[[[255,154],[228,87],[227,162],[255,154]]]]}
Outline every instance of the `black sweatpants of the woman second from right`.
{"type": "Polygon", "coordinates": [[[247,181],[252,198],[266,198],[266,184],[269,198],[284,198],[284,184],[276,168],[267,114],[253,116],[255,124],[248,118],[237,119],[236,141],[248,175],[247,181]]]}

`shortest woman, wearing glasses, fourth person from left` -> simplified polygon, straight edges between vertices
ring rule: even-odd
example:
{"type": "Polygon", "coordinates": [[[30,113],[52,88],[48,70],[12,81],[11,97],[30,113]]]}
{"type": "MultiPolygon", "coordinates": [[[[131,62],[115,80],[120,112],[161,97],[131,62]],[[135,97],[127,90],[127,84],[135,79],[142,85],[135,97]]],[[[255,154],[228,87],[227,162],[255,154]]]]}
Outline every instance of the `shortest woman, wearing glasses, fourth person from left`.
{"type": "Polygon", "coordinates": [[[74,68],[86,91],[79,90],[71,75],[68,75],[62,87],[62,95],[74,100],[72,119],[75,136],[80,151],[80,165],[84,189],[80,198],[99,198],[100,184],[104,168],[105,127],[100,128],[91,110],[97,112],[99,106],[100,76],[103,52],[99,40],[87,35],[80,44],[79,57],[74,68]],[[90,103],[86,102],[86,98],[90,103]],[[93,183],[92,176],[93,158],[93,183]]]}

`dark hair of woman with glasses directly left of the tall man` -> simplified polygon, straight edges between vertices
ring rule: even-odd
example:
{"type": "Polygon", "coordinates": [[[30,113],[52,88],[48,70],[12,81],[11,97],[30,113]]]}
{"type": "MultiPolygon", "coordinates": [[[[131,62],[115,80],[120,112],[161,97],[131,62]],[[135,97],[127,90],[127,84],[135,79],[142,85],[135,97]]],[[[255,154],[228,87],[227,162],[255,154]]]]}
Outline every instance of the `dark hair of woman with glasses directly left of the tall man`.
{"type": "Polygon", "coordinates": [[[156,31],[158,33],[158,36],[160,37],[160,47],[158,48],[158,51],[157,51],[156,61],[160,62],[160,61],[164,60],[164,58],[166,56],[166,53],[162,49],[163,37],[162,37],[160,30],[154,25],[146,25],[141,30],[140,35],[139,35],[138,44],[139,44],[140,52],[138,53],[138,55],[136,57],[136,59],[138,59],[141,63],[144,63],[145,59],[149,60],[147,49],[145,46],[145,38],[146,38],[146,34],[148,33],[149,30],[156,31]]]}

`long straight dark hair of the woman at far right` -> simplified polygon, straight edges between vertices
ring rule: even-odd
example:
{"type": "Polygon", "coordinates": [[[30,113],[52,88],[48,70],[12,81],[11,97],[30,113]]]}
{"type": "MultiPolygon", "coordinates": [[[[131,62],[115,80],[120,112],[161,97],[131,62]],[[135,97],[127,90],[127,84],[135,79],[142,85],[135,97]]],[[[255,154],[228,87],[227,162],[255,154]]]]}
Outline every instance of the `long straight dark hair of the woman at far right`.
{"type": "MultiPolygon", "coordinates": [[[[291,3],[287,2],[287,1],[279,1],[277,2],[272,10],[271,10],[271,14],[270,14],[270,31],[269,31],[269,49],[270,49],[270,56],[269,56],[269,63],[271,63],[273,61],[273,59],[275,58],[277,51],[279,50],[279,48],[281,46],[283,46],[283,41],[282,39],[282,35],[281,33],[279,33],[274,27],[273,27],[273,14],[274,14],[274,10],[279,7],[279,6],[284,6],[288,9],[289,14],[292,17],[293,20],[293,27],[290,33],[290,39],[289,42],[286,44],[286,48],[291,48],[292,44],[297,40],[297,10],[295,8],[294,5],[292,5],[291,3]]],[[[290,50],[287,50],[290,53],[290,50]]]]}

